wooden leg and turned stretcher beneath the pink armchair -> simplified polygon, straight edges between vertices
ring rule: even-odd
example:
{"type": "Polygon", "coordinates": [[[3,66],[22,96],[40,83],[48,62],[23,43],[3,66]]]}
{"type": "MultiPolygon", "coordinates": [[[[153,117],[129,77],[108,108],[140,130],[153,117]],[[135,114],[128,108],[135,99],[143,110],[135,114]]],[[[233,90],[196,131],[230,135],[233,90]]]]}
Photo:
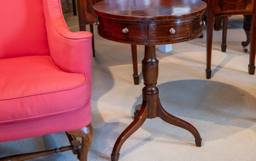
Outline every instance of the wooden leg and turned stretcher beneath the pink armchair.
{"type": "Polygon", "coordinates": [[[79,161],[87,161],[87,154],[93,139],[93,128],[91,123],[82,129],[67,131],[66,132],[70,146],[63,146],[53,150],[45,150],[42,152],[18,154],[14,156],[8,156],[0,158],[0,161],[25,161],[32,158],[45,156],[52,153],[66,152],[72,150],[72,152],[78,155],[79,161]],[[82,144],[76,137],[82,137],[82,144]]]}

